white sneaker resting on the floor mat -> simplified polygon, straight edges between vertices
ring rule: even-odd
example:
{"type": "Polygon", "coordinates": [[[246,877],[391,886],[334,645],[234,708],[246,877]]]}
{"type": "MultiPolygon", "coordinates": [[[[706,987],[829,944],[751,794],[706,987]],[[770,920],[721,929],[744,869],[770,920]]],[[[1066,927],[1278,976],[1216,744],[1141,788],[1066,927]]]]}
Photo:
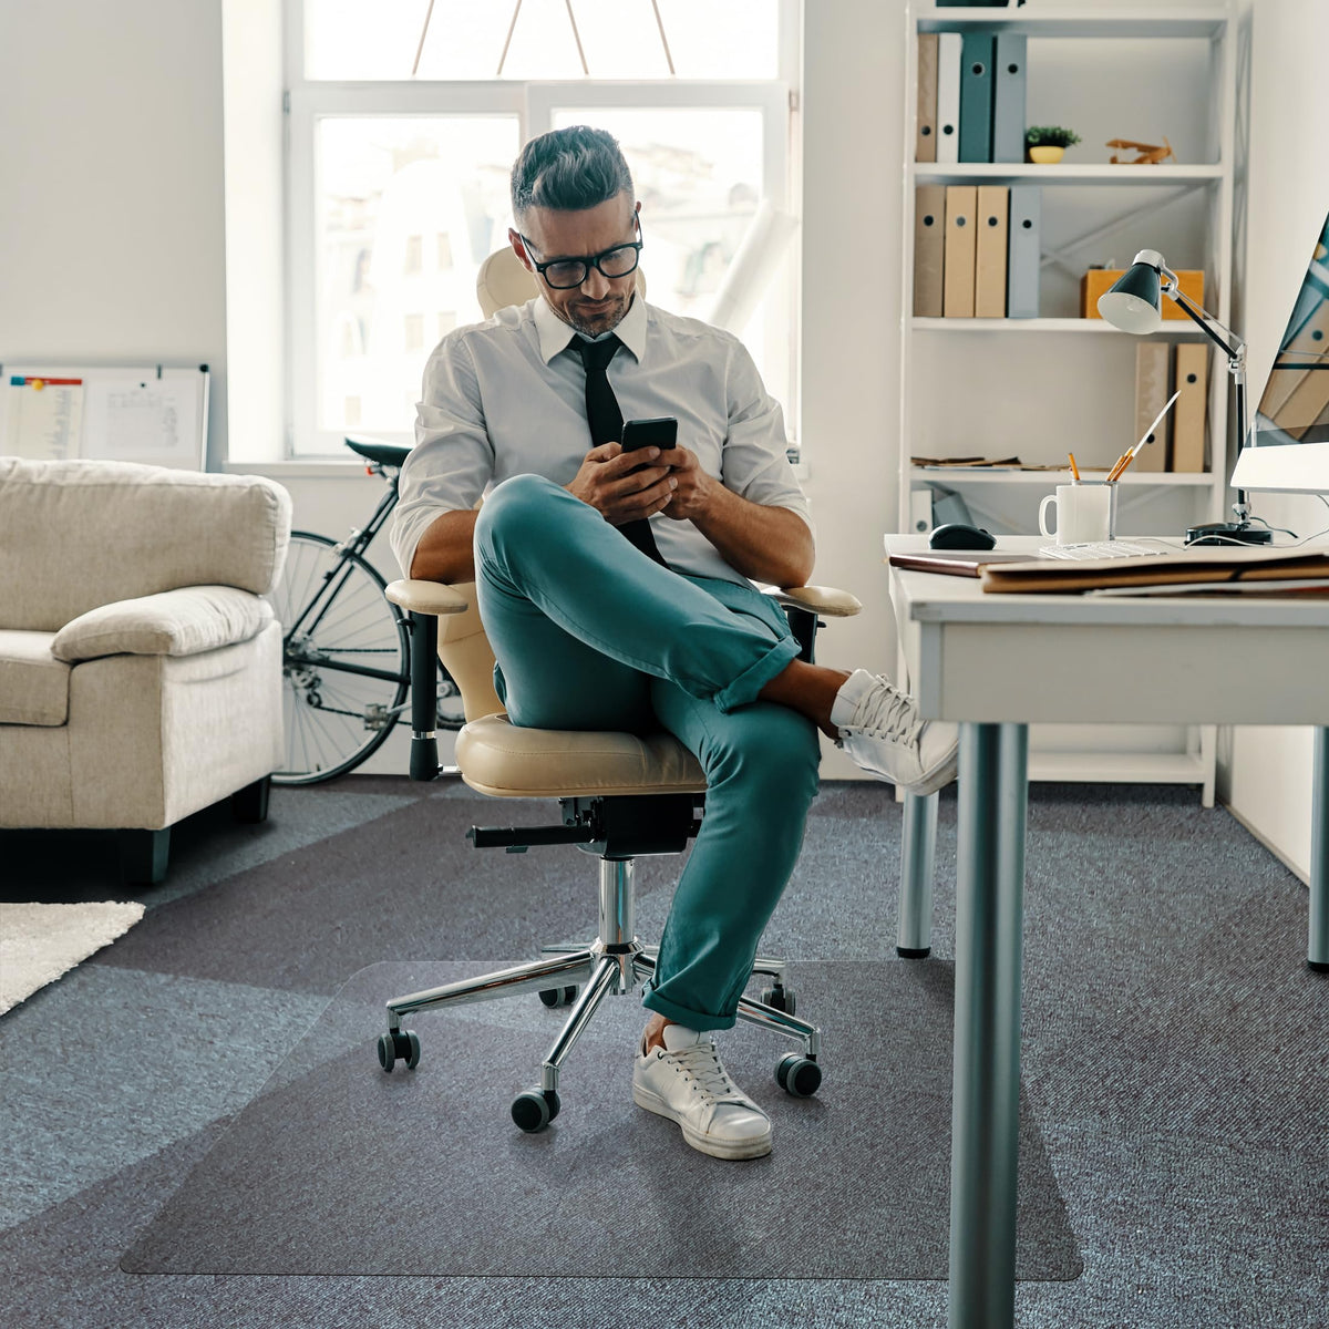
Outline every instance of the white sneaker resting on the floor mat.
{"type": "Polygon", "coordinates": [[[771,1119],[730,1079],[715,1039],[682,1025],[664,1026],[664,1046],[637,1054],[633,1102],[678,1122],[683,1139],[718,1159],[771,1152],[771,1119]]]}

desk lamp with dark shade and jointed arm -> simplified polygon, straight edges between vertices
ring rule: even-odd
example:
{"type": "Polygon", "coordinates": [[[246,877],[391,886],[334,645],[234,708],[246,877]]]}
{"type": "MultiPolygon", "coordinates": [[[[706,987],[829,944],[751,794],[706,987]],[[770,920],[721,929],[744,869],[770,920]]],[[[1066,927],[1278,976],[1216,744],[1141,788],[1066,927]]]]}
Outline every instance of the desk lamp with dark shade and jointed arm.
{"type": "MultiPolygon", "coordinates": [[[[1098,312],[1112,327],[1123,332],[1155,332],[1163,322],[1163,296],[1181,307],[1181,312],[1200,326],[1204,335],[1228,358],[1228,372],[1236,387],[1237,399],[1237,456],[1247,441],[1245,342],[1225,328],[1212,314],[1205,312],[1189,296],[1181,294],[1180,283],[1158,250],[1140,250],[1135,262],[1118,278],[1115,284],[1098,298],[1098,312]]],[[[1273,533],[1264,526],[1251,525],[1251,509],[1244,489],[1237,490],[1232,505],[1236,521],[1209,522],[1191,526],[1185,533],[1188,545],[1268,545],[1273,533]]]]}

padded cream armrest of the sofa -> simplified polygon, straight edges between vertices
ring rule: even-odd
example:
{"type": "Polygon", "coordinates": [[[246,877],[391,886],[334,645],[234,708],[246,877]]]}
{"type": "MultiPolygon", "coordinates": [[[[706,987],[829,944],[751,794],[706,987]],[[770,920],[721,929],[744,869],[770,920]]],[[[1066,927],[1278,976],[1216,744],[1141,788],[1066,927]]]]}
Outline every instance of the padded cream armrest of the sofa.
{"type": "Polygon", "coordinates": [[[247,642],[272,617],[272,606],[250,591],[185,586],[90,609],[56,633],[51,650],[70,663],[102,655],[199,655],[247,642]]]}

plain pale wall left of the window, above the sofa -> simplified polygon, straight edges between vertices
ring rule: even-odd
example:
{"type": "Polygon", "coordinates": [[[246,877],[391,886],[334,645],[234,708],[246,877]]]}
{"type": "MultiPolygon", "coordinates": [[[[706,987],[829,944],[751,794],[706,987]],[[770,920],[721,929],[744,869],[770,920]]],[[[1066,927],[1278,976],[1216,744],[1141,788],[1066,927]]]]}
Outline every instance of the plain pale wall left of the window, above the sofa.
{"type": "Polygon", "coordinates": [[[0,361],[207,364],[226,439],[218,0],[0,0],[0,361]]]}

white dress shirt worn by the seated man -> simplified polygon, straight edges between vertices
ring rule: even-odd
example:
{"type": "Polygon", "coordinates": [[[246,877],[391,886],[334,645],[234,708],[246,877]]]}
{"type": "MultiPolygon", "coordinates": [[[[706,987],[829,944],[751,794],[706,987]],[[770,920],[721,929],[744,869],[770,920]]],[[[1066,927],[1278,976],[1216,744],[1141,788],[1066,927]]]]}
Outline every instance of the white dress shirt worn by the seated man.
{"type": "MultiPolygon", "coordinates": [[[[623,346],[609,381],[625,420],[675,416],[678,441],[727,489],[812,514],[785,456],[784,417],[747,350],[728,332],[638,295],[614,328],[623,346]]],[[[416,445],[401,468],[392,552],[411,574],[416,545],[443,513],[468,510],[492,485],[538,474],[566,485],[591,448],[586,372],[574,332],[538,296],[449,332],[424,369],[416,445]]],[[[663,513],[651,533],[672,567],[743,582],[690,521],[663,513]]]]}

